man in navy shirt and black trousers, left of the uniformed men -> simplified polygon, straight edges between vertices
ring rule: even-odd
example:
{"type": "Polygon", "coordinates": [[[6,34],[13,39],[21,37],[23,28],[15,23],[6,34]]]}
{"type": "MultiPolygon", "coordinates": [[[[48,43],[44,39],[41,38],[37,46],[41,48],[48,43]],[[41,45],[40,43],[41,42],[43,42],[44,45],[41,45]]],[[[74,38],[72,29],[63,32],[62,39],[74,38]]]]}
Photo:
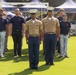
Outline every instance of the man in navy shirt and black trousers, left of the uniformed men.
{"type": "Polygon", "coordinates": [[[21,56],[22,37],[24,36],[24,19],[20,16],[20,10],[15,9],[15,16],[10,20],[10,34],[14,42],[14,57],[21,56]]]}

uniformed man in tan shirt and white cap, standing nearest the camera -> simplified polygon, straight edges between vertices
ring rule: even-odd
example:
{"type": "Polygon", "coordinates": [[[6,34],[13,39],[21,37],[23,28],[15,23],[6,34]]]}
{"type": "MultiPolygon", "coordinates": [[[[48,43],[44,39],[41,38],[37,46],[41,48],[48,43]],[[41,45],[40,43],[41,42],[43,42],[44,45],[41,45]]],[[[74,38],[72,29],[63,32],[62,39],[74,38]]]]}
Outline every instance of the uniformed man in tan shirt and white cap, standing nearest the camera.
{"type": "Polygon", "coordinates": [[[30,10],[31,19],[26,22],[26,42],[29,50],[29,66],[30,69],[38,69],[39,63],[39,45],[42,39],[42,22],[36,19],[37,10],[30,10]]]}

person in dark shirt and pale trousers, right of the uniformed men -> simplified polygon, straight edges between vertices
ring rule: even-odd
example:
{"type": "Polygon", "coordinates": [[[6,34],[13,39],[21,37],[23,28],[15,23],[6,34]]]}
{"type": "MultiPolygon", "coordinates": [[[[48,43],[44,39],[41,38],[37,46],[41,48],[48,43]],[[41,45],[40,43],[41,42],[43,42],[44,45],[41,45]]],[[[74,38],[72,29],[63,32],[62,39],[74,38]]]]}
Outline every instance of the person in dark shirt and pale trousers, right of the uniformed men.
{"type": "Polygon", "coordinates": [[[67,15],[63,15],[63,21],[60,22],[60,57],[68,57],[67,55],[67,44],[68,44],[68,36],[70,35],[71,24],[67,20],[67,15]]]}

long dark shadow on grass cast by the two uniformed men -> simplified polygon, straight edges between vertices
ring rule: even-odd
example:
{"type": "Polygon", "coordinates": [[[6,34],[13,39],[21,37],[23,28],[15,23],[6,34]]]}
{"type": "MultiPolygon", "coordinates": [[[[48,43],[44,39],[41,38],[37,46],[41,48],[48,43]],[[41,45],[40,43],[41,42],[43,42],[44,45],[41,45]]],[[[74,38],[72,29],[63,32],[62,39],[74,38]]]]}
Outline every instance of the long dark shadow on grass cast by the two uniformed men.
{"type": "Polygon", "coordinates": [[[33,74],[33,72],[42,72],[42,71],[45,71],[45,70],[49,69],[50,67],[51,67],[50,65],[48,65],[48,66],[41,65],[41,66],[39,66],[38,70],[35,70],[35,69],[30,70],[29,68],[27,68],[27,69],[25,69],[25,70],[23,70],[21,72],[11,73],[11,74],[8,74],[8,75],[30,75],[30,74],[33,74]]]}

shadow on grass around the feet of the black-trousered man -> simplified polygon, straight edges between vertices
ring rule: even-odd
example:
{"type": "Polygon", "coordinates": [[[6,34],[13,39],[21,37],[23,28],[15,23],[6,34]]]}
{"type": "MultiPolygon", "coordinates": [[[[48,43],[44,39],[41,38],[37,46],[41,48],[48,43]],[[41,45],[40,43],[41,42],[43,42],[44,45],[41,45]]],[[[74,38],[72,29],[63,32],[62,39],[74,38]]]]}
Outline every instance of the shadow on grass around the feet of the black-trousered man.
{"type": "Polygon", "coordinates": [[[19,57],[19,58],[13,58],[13,50],[8,50],[6,53],[5,53],[5,57],[4,58],[1,58],[0,57],[0,61],[10,61],[10,60],[20,60],[20,61],[27,61],[28,59],[28,50],[27,49],[24,49],[22,50],[22,57],[19,57]]]}

